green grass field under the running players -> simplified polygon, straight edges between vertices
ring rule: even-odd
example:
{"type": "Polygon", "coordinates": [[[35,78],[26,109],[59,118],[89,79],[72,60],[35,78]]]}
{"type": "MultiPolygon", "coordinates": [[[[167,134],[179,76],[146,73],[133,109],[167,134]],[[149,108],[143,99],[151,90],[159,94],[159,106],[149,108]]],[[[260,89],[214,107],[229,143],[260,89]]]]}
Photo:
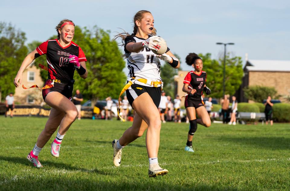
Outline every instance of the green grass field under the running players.
{"type": "Polygon", "coordinates": [[[26,159],[47,118],[0,117],[0,190],[262,190],[290,188],[289,124],[198,125],[195,153],[185,152],[188,124],[162,124],[159,164],[165,176],[148,177],[145,135],[112,164],[111,141],[130,122],[83,119],[66,134],[60,158],[40,153],[43,168],[26,159]]]}

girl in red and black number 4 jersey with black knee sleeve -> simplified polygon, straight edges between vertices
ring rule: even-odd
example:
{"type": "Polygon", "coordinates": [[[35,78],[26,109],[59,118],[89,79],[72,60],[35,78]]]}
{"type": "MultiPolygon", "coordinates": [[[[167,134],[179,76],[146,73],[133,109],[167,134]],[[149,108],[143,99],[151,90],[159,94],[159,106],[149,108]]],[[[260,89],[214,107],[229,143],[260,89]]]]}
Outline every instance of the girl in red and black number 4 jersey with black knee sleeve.
{"type": "Polygon", "coordinates": [[[188,72],[185,76],[182,88],[182,91],[187,93],[184,104],[190,122],[185,151],[194,152],[192,149],[192,138],[197,130],[197,124],[205,127],[211,126],[211,119],[202,101],[203,91],[209,95],[211,90],[205,86],[207,75],[205,71],[202,71],[203,63],[201,58],[195,53],[189,53],[186,56],[186,64],[194,67],[195,70],[188,72]],[[196,119],[196,113],[200,119],[196,119]]]}

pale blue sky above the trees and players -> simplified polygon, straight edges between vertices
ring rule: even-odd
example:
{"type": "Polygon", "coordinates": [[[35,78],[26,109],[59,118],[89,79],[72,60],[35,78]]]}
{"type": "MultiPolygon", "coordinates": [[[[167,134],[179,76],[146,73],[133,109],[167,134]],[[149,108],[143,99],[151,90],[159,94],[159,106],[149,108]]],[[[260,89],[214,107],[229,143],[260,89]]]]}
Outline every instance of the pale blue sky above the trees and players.
{"type": "Polygon", "coordinates": [[[67,18],[80,27],[100,28],[128,33],[133,31],[137,11],[153,14],[157,35],[163,37],[172,53],[181,57],[183,70],[190,52],[223,55],[216,42],[234,42],[227,52],[249,60],[290,60],[290,1],[220,0],[220,1],[3,1],[0,21],[12,23],[26,33],[26,43],[45,41],[56,34],[54,27],[67,18]]]}

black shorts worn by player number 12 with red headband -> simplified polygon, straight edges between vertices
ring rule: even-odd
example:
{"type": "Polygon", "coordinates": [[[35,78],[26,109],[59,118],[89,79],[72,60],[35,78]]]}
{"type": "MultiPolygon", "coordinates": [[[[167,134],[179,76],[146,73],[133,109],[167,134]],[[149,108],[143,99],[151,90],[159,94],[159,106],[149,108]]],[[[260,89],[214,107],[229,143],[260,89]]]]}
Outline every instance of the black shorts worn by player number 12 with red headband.
{"type": "MultiPolygon", "coordinates": [[[[43,86],[50,85],[51,83],[52,83],[51,80],[46,80],[43,86]]],[[[42,90],[42,98],[45,101],[47,94],[49,94],[50,92],[59,92],[62,95],[66,96],[67,99],[72,99],[72,89],[73,89],[73,80],[69,83],[54,82],[53,87],[42,90]]]]}

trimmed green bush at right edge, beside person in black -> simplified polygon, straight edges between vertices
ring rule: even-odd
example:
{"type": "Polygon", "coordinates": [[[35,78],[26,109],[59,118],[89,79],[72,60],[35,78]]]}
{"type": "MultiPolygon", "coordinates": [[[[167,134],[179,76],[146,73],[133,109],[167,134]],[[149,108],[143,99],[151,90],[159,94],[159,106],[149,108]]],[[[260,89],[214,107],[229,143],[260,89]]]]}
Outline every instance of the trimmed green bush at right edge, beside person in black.
{"type": "Polygon", "coordinates": [[[290,122],[290,104],[276,103],[272,108],[273,120],[277,122],[290,122]]]}

